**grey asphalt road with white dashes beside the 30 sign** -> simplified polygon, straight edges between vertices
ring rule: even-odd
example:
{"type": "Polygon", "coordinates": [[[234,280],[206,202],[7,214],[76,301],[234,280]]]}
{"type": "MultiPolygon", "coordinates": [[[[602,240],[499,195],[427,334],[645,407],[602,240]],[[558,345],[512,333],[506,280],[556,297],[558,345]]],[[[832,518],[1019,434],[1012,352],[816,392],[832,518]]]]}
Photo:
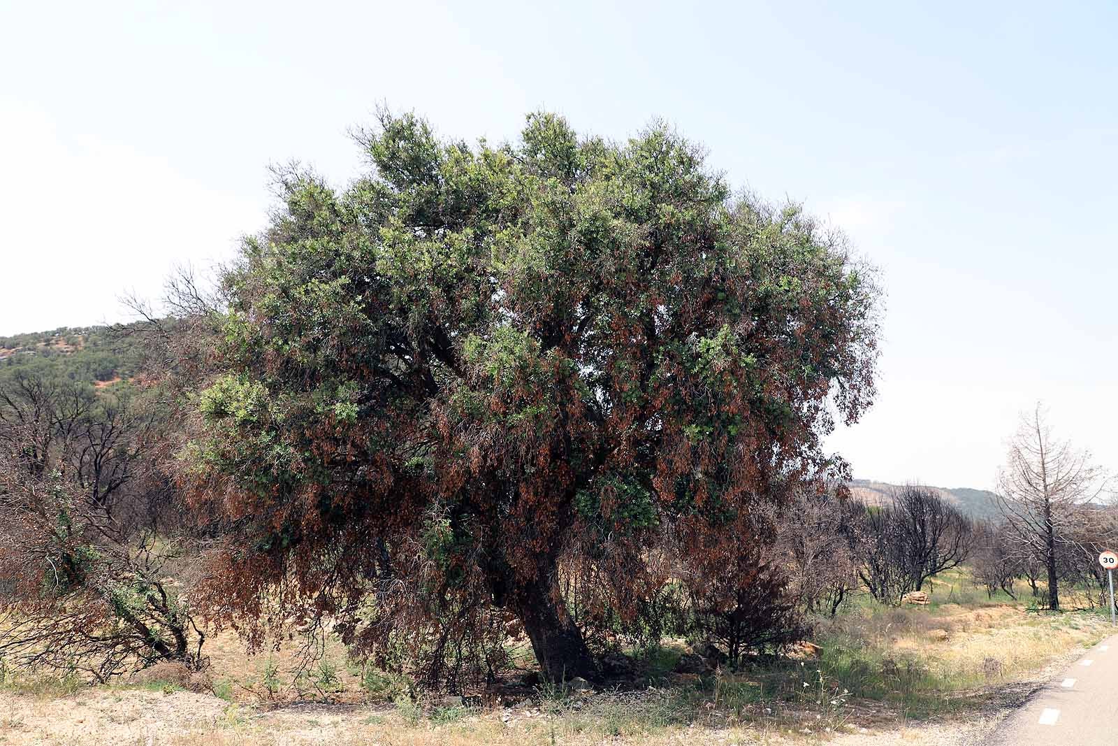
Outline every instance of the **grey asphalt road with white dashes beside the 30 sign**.
{"type": "Polygon", "coordinates": [[[1118,744],[1118,635],[1088,650],[1006,718],[993,746],[1118,744]]]}

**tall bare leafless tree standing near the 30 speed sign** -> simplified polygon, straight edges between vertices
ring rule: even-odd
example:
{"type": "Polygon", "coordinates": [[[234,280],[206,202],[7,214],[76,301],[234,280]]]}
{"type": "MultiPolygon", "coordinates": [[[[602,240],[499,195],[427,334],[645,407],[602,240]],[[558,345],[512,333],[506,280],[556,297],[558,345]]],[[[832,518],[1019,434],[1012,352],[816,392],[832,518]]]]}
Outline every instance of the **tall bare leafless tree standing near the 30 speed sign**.
{"type": "Polygon", "coordinates": [[[1084,508],[1106,493],[1106,473],[1090,453],[1057,438],[1040,404],[1022,415],[998,474],[998,507],[1016,554],[1048,576],[1049,608],[1060,608],[1060,555],[1076,541],[1084,508]]]}

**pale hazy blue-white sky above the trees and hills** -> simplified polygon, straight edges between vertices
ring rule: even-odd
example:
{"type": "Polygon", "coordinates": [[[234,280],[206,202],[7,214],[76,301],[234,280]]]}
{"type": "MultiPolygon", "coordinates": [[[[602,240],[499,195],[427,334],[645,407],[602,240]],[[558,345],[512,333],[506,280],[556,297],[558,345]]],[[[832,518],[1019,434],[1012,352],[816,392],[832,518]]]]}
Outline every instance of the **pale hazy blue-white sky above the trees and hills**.
{"type": "Polygon", "coordinates": [[[1118,466],[1114,3],[0,0],[0,334],[115,321],[338,183],[378,102],[447,136],[654,116],[844,228],[888,289],[856,476],[989,488],[1016,413],[1118,466]]]}

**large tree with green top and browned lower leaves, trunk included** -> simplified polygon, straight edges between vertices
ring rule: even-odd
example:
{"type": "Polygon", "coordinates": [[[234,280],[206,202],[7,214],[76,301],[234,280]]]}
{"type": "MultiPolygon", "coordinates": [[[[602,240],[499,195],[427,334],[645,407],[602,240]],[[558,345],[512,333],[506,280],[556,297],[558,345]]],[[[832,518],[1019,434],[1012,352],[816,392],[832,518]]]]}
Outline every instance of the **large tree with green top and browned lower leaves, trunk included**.
{"type": "Polygon", "coordinates": [[[741,559],[771,535],[756,508],[827,472],[834,413],[874,391],[878,291],[842,238],[733,197],[661,125],[613,143],[537,114],[492,147],[383,114],[358,139],[345,189],[280,174],[224,278],[187,451],[222,521],[211,606],[329,618],[433,679],[521,624],[560,679],[596,672],[565,553],[622,616],[664,551],[685,582],[770,582],[741,559]]]}

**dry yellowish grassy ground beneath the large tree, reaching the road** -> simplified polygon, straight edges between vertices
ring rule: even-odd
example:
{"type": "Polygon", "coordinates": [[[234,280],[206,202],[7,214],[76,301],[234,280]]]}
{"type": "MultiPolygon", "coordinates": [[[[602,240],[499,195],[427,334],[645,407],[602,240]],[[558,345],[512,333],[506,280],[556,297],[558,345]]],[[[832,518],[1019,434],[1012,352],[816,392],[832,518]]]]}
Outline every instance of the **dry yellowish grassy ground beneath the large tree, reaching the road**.
{"type": "Polygon", "coordinates": [[[989,601],[958,573],[926,607],[859,599],[824,622],[818,661],[787,661],[703,687],[536,698],[515,708],[436,708],[370,697],[361,670],[331,641],[329,691],[293,686],[293,650],[246,655],[233,634],[208,642],[216,693],[162,689],[31,687],[0,690],[0,746],[387,746],[449,744],[940,744],[986,727],[982,703],[1002,684],[1110,632],[1095,613],[1038,613],[1026,599],[989,601]],[[266,682],[272,671],[269,691],[266,682]],[[849,689],[835,705],[815,684],[849,689]],[[807,683],[808,687],[804,687],[807,683]],[[38,691],[39,696],[35,696],[38,691]],[[301,701],[293,701],[301,700],[301,701]],[[310,701],[318,700],[318,701],[310,701]],[[329,700],[329,701],[328,701],[329,700]],[[927,718],[912,725],[912,717],[927,718]],[[977,730],[976,730],[977,729],[977,730]]]}

